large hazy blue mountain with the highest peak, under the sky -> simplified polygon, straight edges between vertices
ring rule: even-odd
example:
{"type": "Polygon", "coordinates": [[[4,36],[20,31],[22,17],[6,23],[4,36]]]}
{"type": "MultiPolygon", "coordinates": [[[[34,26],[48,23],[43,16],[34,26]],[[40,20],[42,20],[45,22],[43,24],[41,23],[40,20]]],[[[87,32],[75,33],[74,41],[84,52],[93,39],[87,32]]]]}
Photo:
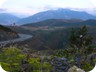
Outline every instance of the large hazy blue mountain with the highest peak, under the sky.
{"type": "Polygon", "coordinates": [[[57,9],[39,12],[27,18],[20,19],[17,24],[27,24],[39,22],[47,19],[96,19],[96,16],[81,11],[73,11],[70,9],[57,9]]]}

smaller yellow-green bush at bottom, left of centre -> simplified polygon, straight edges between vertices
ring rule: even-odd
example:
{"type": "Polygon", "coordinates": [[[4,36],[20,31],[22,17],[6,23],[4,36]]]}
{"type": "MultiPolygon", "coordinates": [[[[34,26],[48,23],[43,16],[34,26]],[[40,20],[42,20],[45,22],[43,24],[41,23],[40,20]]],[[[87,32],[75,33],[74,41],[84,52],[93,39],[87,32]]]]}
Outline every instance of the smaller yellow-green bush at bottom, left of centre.
{"type": "Polygon", "coordinates": [[[33,72],[50,72],[52,66],[49,62],[41,63],[40,58],[30,58],[29,63],[33,68],[33,72]]]}

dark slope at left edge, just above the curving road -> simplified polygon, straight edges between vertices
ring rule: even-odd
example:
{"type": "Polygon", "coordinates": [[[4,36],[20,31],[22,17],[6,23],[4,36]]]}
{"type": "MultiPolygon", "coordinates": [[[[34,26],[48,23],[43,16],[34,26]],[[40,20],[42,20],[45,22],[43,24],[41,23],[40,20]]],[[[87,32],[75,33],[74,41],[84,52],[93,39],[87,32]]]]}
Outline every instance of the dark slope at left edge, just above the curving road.
{"type": "Polygon", "coordinates": [[[0,25],[0,41],[11,40],[18,37],[15,31],[0,25]]]}

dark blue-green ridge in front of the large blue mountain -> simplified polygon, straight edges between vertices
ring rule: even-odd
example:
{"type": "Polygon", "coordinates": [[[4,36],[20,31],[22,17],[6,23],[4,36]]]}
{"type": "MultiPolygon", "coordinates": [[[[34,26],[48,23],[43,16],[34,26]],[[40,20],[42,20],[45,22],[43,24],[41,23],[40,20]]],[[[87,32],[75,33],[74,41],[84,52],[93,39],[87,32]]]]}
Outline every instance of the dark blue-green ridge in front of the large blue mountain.
{"type": "Polygon", "coordinates": [[[40,26],[65,26],[65,27],[78,27],[78,26],[96,26],[96,20],[80,20],[80,21],[72,21],[72,20],[62,20],[62,19],[49,19],[49,20],[44,20],[40,21],[37,23],[29,23],[29,24],[24,24],[23,26],[29,26],[29,27],[40,27],[40,26]]]}

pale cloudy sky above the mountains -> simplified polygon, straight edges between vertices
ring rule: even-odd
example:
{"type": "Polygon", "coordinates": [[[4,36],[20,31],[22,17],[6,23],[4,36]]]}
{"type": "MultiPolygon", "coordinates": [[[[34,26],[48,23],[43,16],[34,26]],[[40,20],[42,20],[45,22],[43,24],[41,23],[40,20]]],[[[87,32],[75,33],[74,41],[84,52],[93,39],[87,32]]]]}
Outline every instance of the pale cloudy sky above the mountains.
{"type": "Polygon", "coordinates": [[[23,17],[58,8],[96,14],[96,0],[0,0],[0,13],[7,12],[23,17]]]}

